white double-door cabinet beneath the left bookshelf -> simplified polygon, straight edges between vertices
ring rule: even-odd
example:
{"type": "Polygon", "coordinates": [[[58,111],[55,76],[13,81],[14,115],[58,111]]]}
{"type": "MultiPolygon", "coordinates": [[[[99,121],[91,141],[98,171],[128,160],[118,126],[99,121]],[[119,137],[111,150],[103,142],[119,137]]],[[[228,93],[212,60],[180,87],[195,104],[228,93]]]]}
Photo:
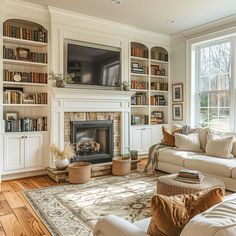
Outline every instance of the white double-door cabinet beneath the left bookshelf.
{"type": "Polygon", "coordinates": [[[43,134],[5,134],[3,171],[43,168],[43,134]]]}

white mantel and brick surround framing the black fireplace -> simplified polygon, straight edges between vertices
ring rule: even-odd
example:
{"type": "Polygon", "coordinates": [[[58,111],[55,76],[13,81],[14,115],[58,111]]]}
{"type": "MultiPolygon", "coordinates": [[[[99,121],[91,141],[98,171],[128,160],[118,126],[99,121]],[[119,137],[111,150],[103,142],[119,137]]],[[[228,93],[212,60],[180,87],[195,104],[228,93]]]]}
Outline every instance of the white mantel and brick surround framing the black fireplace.
{"type": "MultiPolygon", "coordinates": [[[[70,142],[70,121],[113,120],[114,155],[130,149],[130,97],[133,92],[52,88],[51,144],[70,142]]],[[[51,158],[50,167],[54,167],[51,158]]]]}

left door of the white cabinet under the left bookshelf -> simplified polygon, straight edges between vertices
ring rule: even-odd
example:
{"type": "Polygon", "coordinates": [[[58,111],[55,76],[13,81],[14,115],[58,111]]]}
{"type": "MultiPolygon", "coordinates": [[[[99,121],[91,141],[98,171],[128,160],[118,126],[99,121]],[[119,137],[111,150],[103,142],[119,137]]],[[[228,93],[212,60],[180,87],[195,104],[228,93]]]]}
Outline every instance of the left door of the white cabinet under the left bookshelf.
{"type": "Polygon", "coordinates": [[[22,168],[24,168],[24,137],[22,135],[5,135],[3,169],[8,171],[22,168]]]}

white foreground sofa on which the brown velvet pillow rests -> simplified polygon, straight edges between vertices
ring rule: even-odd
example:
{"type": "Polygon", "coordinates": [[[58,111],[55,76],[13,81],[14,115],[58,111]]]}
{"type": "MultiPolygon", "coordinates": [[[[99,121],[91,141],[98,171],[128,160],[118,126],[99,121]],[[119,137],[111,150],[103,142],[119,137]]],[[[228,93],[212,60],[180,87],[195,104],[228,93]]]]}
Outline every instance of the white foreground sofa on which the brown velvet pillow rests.
{"type": "MultiPolygon", "coordinates": [[[[150,218],[129,223],[114,215],[99,220],[94,236],[148,236],[150,218]]],[[[180,236],[235,236],[236,235],[236,194],[195,216],[184,227],[180,236]]]]}

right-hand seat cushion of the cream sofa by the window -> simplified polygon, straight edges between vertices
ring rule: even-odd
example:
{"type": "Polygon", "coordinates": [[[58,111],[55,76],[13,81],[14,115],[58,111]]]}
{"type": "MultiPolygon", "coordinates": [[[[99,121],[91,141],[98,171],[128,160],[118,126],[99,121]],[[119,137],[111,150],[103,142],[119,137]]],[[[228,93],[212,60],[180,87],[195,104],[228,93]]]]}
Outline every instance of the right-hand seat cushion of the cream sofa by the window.
{"type": "Polygon", "coordinates": [[[196,155],[192,156],[191,159],[186,159],[184,161],[184,167],[200,170],[212,175],[231,178],[232,169],[236,168],[236,158],[225,159],[206,155],[196,155]]]}

